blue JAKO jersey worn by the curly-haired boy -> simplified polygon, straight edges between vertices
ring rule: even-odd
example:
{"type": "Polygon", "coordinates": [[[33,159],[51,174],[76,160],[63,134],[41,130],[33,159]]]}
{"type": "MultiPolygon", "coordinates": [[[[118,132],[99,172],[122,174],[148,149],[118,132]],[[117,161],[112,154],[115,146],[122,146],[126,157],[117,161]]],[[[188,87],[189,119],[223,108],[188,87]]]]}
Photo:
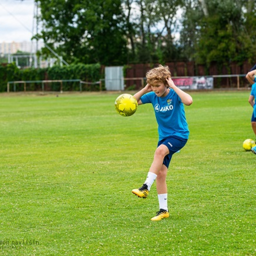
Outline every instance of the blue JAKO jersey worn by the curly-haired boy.
{"type": "Polygon", "coordinates": [[[140,98],[143,104],[151,103],[155,110],[159,140],[169,136],[188,139],[189,130],[184,105],[179,95],[172,89],[165,97],[157,97],[148,92],[140,98]]]}

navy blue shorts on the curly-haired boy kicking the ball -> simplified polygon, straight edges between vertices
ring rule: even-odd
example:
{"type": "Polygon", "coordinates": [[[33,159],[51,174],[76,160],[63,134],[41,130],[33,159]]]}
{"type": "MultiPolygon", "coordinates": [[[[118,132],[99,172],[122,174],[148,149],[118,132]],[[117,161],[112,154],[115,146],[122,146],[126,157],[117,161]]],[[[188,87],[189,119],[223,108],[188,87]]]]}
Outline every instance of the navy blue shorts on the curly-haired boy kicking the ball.
{"type": "Polygon", "coordinates": [[[157,148],[163,144],[169,149],[169,154],[164,157],[163,161],[163,164],[167,168],[169,167],[169,164],[171,162],[172,155],[179,151],[181,148],[183,148],[186,145],[187,141],[188,139],[184,139],[178,136],[171,136],[158,141],[157,148]]]}

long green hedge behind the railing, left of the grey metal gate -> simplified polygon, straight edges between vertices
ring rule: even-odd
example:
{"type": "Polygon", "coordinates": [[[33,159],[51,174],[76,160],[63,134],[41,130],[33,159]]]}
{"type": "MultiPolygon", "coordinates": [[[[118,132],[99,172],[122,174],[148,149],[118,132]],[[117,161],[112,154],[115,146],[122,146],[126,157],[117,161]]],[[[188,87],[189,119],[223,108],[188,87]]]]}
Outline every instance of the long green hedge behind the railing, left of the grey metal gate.
{"type": "MultiPolygon", "coordinates": [[[[36,81],[36,80],[71,80],[80,79],[86,82],[97,82],[103,78],[100,64],[72,64],[70,66],[53,66],[51,68],[28,68],[22,69],[16,67],[14,63],[7,66],[0,66],[0,92],[7,91],[7,82],[9,81],[36,81]]],[[[45,84],[46,90],[59,91],[60,83],[45,84]]],[[[63,82],[63,91],[79,91],[78,82],[63,82]]],[[[23,84],[16,84],[16,91],[23,91],[23,84]]],[[[40,83],[27,84],[27,91],[42,90],[40,83]]],[[[99,90],[95,85],[87,87],[87,91],[99,90]]],[[[13,91],[13,84],[10,84],[10,91],[13,91]]]]}

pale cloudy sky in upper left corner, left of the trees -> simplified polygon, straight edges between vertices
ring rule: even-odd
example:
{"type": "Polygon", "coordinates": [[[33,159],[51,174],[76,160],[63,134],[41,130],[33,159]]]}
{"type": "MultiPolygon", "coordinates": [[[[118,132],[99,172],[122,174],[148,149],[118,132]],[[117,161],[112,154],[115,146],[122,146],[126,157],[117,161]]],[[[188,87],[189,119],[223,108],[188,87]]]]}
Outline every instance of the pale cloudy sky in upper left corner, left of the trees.
{"type": "Polygon", "coordinates": [[[0,43],[30,41],[33,17],[33,0],[0,0],[0,43]]]}

